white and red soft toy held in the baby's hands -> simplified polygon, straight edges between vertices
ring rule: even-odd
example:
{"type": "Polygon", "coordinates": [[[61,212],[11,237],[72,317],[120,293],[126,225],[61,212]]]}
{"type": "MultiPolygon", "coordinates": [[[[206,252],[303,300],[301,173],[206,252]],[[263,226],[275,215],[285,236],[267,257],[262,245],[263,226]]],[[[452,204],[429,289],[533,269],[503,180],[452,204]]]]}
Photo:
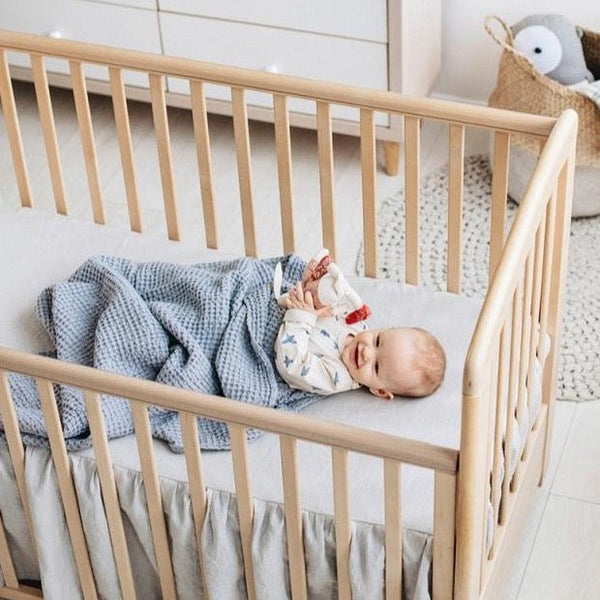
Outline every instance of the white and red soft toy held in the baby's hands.
{"type": "MultiPolygon", "coordinates": [[[[281,293],[282,280],[281,264],[278,264],[275,267],[273,289],[279,306],[285,308],[288,294],[281,293]]],[[[364,321],[371,314],[371,309],[352,289],[326,248],[309,262],[302,287],[312,293],[315,308],[331,306],[333,315],[343,316],[348,325],[364,321]]]]}

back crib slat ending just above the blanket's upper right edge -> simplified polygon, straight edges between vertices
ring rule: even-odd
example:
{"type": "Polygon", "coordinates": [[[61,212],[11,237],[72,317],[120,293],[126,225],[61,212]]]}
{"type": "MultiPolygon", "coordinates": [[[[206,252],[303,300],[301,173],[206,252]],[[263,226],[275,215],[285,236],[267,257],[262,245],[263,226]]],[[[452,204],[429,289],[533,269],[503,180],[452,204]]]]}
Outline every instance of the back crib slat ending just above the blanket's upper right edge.
{"type": "Polygon", "coordinates": [[[296,250],[296,238],[294,234],[292,148],[287,96],[273,94],[273,107],[275,110],[275,143],[277,145],[277,173],[279,176],[283,251],[288,254],[296,250]]]}

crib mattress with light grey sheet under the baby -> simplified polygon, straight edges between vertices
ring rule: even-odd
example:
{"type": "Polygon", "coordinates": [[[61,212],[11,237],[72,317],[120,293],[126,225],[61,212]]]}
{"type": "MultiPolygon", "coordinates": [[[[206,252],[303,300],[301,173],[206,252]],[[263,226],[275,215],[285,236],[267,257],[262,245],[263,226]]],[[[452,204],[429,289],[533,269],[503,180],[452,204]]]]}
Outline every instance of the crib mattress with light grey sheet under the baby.
{"type": "MultiPolygon", "coordinates": [[[[65,217],[22,209],[0,218],[0,345],[38,352],[49,340],[37,322],[34,306],[48,285],[68,277],[85,259],[97,254],[134,260],[193,263],[231,254],[205,250],[193,244],[169,242],[125,229],[101,227],[65,217]]],[[[458,449],[462,366],[480,302],[442,292],[429,292],[386,280],[350,278],[373,310],[371,327],[411,325],[429,329],[447,354],[442,386],[419,400],[385,401],[354,390],[323,398],[303,414],[367,429],[383,431],[458,449]]],[[[110,442],[116,465],[139,470],[135,438],[110,442]]],[[[161,477],[187,481],[185,459],[156,440],[157,467],[161,477]]],[[[299,477],[303,507],[332,514],[331,457],[328,448],[299,443],[299,477]]],[[[93,450],[79,452],[93,459],[93,450]]],[[[279,444],[265,433],[249,445],[253,495],[266,501],[282,501],[279,444]]],[[[203,452],[208,488],[233,492],[229,452],[203,452]]],[[[351,454],[351,514],[355,521],[383,523],[383,465],[380,459],[351,454]]],[[[410,465],[402,468],[404,527],[432,532],[433,473],[410,465]]]]}

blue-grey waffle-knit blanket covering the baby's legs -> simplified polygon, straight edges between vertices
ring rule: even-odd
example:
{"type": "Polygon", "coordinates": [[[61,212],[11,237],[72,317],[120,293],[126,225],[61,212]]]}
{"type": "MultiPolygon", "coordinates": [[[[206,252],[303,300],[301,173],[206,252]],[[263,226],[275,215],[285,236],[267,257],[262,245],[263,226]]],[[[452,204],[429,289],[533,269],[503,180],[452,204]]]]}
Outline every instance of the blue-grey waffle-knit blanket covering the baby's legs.
{"type": "MultiPolygon", "coordinates": [[[[37,313],[56,358],[97,369],[243,400],[299,410],[317,399],[292,390],[275,368],[274,343],[283,317],[272,291],[282,263],[284,287],[302,277],[295,255],[273,259],[176,265],[94,257],[67,281],[42,292],[37,313]]],[[[48,445],[35,382],[10,377],[23,440],[48,445]]],[[[91,445],[80,390],[55,385],[67,448],[91,445]]],[[[109,438],[133,432],[129,402],[102,397],[109,438]]],[[[152,407],[152,434],[183,451],[178,413],[152,407]]],[[[198,419],[202,448],[229,448],[224,423],[198,419]]],[[[259,434],[249,430],[248,438],[259,434]]]]}

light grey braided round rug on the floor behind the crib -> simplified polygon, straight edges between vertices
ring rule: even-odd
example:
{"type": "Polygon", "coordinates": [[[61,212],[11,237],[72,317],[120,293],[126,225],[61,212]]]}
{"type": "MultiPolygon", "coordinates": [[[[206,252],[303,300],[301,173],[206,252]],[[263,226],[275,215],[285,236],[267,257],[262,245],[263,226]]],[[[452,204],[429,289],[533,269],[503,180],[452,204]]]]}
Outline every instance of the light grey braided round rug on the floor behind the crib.
{"type": "MultiPolygon", "coordinates": [[[[421,279],[429,289],[446,285],[446,208],[448,171],[444,167],[421,184],[421,279]]],[[[465,159],[463,224],[463,278],[465,295],[483,297],[488,284],[489,202],[491,171],[488,158],[465,159]]],[[[509,202],[512,222],[517,205],[509,202]]],[[[379,275],[404,280],[404,191],[381,202],[378,211],[379,275]]],[[[600,398],[600,217],[575,219],[571,225],[569,269],[558,397],[564,400],[600,398]]],[[[357,274],[363,273],[362,247],[356,260],[357,274]]]]}

